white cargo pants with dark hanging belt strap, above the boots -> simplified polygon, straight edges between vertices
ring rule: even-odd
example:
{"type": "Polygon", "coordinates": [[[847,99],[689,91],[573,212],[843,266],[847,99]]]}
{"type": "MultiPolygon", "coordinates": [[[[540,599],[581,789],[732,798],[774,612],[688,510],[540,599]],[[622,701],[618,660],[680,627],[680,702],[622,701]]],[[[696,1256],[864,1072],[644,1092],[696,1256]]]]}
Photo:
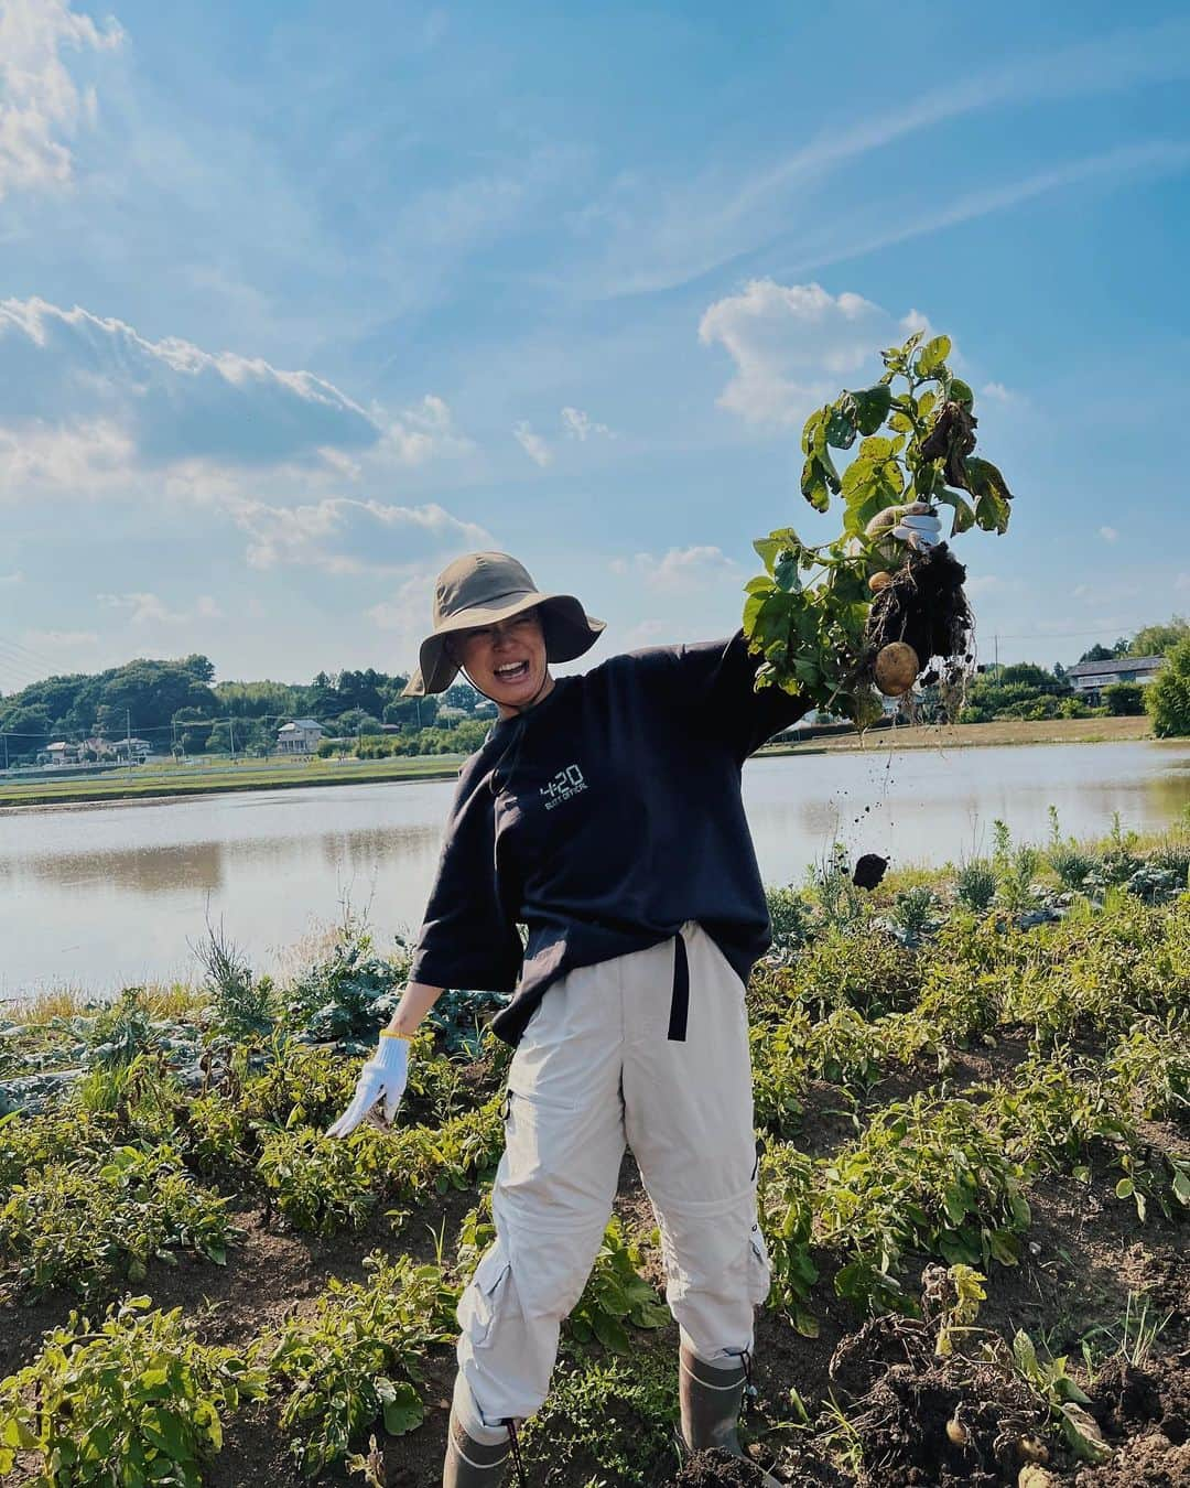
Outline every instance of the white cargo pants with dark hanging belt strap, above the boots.
{"type": "Polygon", "coordinates": [[[503,1440],[501,1421],[546,1399],[625,1143],[657,1219],[681,1341],[721,1364],[753,1347],[769,1260],[756,1219],[744,985],[693,920],[674,940],[570,972],[516,1049],[497,1238],[458,1305],[455,1409],[476,1440],[503,1440]]]}

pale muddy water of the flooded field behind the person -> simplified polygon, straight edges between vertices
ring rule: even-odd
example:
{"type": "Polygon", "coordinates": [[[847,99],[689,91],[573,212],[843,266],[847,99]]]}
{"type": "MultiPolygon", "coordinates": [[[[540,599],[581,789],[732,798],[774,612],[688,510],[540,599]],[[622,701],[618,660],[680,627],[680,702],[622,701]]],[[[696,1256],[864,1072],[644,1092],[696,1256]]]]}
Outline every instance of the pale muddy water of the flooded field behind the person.
{"type": "MultiPolygon", "coordinates": [[[[1190,744],[1074,744],[753,760],[745,802],[768,882],[800,881],[840,836],[894,863],[986,848],[994,818],[1041,841],[1159,829],[1190,804],[1190,744]]],[[[345,903],[378,937],[419,923],[449,783],[260,792],[0,814],[0,997],[189,978],[205,920],[260,970],[345,903]]]]}

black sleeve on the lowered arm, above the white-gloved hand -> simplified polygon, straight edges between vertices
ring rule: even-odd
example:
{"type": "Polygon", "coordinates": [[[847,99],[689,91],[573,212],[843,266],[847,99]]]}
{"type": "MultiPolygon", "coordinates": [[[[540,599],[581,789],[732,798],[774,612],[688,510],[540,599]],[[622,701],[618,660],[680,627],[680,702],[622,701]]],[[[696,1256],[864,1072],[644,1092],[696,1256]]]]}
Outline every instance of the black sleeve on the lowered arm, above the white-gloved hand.
{"type": "Polygon", "coordinates": [[[412,982],[512,992],[522,946],[497,873],[494,801],[486,774],[460,781],[418,933],[412,982]]]}

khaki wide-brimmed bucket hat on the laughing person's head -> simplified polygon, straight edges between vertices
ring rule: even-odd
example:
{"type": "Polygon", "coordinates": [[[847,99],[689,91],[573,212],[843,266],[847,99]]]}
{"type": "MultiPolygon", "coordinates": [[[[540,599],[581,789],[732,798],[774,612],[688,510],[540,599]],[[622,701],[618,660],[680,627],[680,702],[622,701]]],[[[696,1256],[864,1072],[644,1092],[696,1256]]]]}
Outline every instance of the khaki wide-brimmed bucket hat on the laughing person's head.
{"type": "Polygon", "coordinates": [[[421,643],[421,667],[402,696],[422,698],[451,686],[458,676],[446,649],[452,634],[512,619],[534,606],[541,610],[547,661],[574,661],[589,652],[605,625],[592,619],[573,594],[541,594],[525,565],[507,554],[455,558],[437,576],[434,628],[421,643]]]}

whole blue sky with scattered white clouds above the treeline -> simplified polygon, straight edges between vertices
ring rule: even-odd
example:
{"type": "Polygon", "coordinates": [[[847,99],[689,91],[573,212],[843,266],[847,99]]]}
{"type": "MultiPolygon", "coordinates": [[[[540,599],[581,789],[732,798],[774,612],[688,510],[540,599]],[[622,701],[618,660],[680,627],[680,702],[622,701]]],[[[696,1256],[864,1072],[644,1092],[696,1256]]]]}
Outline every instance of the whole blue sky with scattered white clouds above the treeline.
{"type": "Polygon", "coordinates": [[[1184,4],[112,4],[0,0],[0,693],[408,671],[485,548],[726,635],[919,326],[980,656],[1190,612],[1184,4]]]}

